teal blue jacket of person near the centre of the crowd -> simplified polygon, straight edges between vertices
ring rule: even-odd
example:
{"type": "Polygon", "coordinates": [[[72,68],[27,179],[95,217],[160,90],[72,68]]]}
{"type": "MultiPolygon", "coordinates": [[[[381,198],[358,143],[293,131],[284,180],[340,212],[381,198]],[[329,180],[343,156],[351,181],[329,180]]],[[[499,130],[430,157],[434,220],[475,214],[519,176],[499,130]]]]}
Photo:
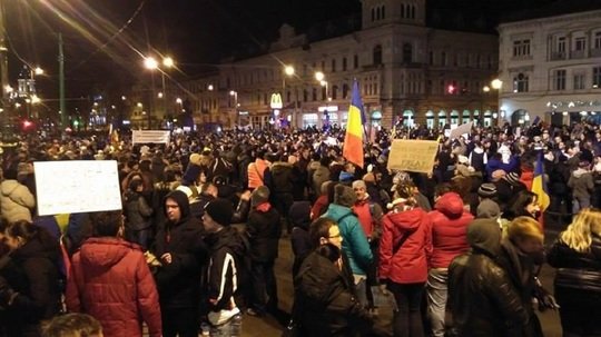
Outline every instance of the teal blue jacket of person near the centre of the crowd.
{"type": "Polygon", "coordinates": [[[348,257],[353,274],[366,275],[366,270],[368,270],[374,257],[357,216],[348,207],[329,204],[327,211],[322,217],[338,222],[343,238],[342,250],[348,257]]]}

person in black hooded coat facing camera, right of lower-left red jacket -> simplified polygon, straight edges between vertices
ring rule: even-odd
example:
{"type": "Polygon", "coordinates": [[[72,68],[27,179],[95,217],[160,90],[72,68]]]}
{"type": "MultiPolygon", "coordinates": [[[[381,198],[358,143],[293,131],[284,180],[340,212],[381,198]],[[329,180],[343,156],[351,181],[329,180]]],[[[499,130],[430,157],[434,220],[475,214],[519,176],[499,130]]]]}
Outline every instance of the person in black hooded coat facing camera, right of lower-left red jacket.
{"type": "Polygon", "coordinates": [[[167,221],[156,237],[161,261],[156,278],[165,337],[198,336],[199,298],[207,248],[201,226],[190,215],[188,197],[176,190],[165,198],[167,221]]]}

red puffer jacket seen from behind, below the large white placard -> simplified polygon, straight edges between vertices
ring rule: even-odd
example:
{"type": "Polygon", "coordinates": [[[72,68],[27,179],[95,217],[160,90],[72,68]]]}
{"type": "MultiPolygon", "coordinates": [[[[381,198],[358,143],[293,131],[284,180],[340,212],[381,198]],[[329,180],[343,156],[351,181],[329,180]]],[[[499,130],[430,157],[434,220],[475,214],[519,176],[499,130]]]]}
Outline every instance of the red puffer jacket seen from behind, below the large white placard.
{"type": "Polygon", "coordinates": [[[107,337],[162,335],[157,287],[139,246],[118,238],[90,238],[76,252],[67,283],[67,308],[102,325],[107,337]]]}

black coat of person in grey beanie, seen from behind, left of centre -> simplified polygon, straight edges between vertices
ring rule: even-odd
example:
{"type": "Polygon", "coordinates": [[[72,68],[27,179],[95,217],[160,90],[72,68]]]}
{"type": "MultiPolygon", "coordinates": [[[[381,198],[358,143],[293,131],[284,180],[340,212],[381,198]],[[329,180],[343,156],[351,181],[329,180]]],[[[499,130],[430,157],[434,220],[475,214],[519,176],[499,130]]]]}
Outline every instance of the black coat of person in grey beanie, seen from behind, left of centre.
{"type": "Polygon", "coordinates": [[[277,258],[282,225],[279,214],[269,204],[262,204],[248,214],[246,234],[250,244],[250,259],[270,262],[277,258]]]}

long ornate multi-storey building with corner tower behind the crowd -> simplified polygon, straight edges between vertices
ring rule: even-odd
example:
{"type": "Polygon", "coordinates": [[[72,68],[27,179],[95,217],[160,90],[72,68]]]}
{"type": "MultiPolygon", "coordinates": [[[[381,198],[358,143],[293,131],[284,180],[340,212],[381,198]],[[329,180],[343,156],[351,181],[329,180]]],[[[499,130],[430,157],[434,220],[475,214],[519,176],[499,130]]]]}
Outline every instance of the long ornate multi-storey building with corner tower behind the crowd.
{"type": "Polygon", "coordinates": [[[362,7],[361,29],[352,33],[309,41],[284,26],[267,53],[181,83],[195,123],[344,126],[355,79],[372,125],[497,122],[497,92],[483,90],[497,73],[496,36],[430,28],[425,0],[362,7]],[[272,108],[274,93],[282,109],[272,108]]]}

